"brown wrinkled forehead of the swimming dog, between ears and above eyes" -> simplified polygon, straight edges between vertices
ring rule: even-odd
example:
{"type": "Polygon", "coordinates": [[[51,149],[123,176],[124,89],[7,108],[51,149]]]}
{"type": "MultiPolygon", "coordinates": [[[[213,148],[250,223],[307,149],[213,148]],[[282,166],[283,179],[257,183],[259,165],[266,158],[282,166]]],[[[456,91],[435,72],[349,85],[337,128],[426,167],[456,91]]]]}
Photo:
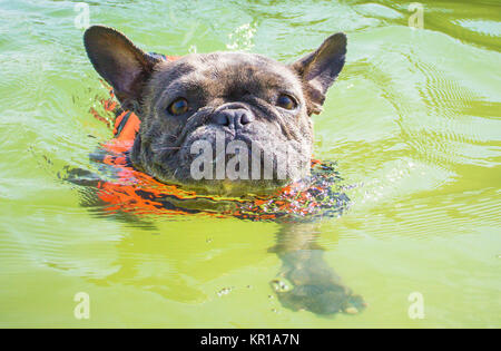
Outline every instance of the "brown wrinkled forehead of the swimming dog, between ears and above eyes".
{"type": "Polygon", "coordinates": [[[281,90],[301,94],[301,81],[285,65],[261,55],[244,52],[193,53],[161,62],[151,84],[157,94],[165,89],[199,91],[198,95],[232,97],[281,90]],[[164,88],[164,89],[163,89],[164,88]]]}

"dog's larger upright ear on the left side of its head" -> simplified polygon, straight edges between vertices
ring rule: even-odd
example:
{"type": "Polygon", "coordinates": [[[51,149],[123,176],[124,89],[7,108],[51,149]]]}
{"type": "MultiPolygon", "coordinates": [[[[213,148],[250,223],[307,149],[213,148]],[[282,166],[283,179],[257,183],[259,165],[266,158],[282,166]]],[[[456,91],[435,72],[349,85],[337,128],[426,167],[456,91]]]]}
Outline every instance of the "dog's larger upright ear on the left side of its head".
{"type": "Polygon", "coordinates": [[[114,87],[125,109],[140,113],[143,89],[159,59],[137,48],[126,36],[104,26],[92,26],[84,43],[97,72],[114,87]]]}

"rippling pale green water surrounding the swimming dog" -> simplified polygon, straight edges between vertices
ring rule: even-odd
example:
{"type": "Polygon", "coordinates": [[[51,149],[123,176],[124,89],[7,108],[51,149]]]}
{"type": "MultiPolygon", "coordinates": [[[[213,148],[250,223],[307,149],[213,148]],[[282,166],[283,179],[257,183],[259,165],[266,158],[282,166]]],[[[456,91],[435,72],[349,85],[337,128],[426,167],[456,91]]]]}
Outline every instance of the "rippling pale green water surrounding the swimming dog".
{"type": "Polygon", "coordinates": [[[170,55],[247,50],[281,61],[348,36],[315,116],[315,156],[352,199],[312,234],[369,308],[284,308],[279,225],[81,206],[65,166],[111,137],[89,109],[106,91],[70,1],[0,1],[0,326],[501,326],[501,6],[497,0],[92,1],[90,23],[170,55]],[[77,320],[77,293],[90,319],[77,320]],[[407,299],[421,293],[424,319],[407,299]]]}

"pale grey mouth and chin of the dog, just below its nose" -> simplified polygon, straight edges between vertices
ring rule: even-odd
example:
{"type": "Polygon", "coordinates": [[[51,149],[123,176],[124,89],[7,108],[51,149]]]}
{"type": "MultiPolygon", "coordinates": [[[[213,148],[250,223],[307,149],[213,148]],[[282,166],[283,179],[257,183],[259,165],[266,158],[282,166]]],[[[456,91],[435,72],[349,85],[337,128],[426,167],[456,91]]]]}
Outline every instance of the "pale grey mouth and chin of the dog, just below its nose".
{"type": "Polygon", "coordinates": [[[198,193],[268,194],[310,173],[310,155],[269,133],[205,125],[176,149],[155,155],[155,176],[198,193]]]}

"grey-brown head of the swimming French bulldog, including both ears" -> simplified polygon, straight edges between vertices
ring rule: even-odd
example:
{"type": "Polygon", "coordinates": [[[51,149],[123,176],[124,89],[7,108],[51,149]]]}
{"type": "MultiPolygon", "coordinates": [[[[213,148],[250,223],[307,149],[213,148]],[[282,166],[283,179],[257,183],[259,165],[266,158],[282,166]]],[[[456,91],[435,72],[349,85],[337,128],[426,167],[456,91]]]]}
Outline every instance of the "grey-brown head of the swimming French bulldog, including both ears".
{"type": "Polygon", "coordinates": [[[101,26],[86,31],[85,46],[122,107],[141,120],[134,166],[164,183],[227,193],[308,174],[311,115],[344,66],[346,37],[333,35],[292,65],[243,52],[163,60],[101,26]]]}

